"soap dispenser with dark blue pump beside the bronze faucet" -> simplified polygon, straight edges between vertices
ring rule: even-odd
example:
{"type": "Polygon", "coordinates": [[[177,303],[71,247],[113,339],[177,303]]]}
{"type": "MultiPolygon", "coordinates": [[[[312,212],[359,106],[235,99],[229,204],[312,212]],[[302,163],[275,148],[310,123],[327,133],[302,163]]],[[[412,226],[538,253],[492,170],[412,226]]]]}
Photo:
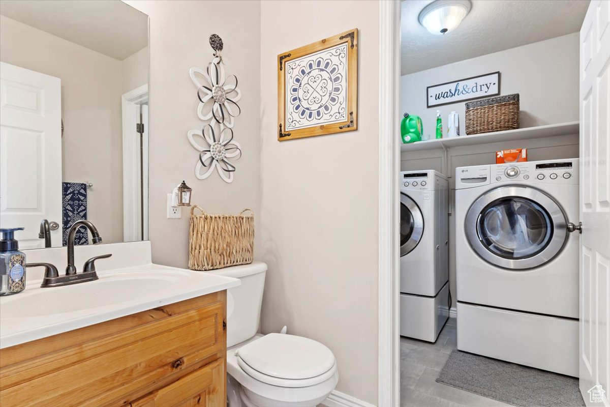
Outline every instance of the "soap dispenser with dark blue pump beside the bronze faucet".
{"type": "Polygon", "coordinates": [[[13,236],[23,228],[0,229],[0,295],[17,294],[26,289],[26,255],[19,251],[13,236]]]}

